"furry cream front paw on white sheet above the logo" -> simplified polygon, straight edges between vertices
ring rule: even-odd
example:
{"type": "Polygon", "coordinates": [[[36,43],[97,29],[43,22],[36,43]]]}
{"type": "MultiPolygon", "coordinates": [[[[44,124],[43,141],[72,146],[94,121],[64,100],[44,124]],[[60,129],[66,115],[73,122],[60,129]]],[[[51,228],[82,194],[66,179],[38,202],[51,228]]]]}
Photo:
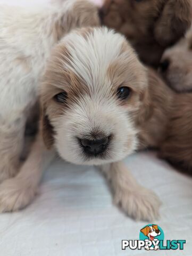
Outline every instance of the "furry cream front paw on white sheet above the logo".
{"type": "Polygon", "coordinates": [[[140,186],[135,190],[116,189],[114,203],[136,220],[153,221],[159,217],[160,199],[153,191],[140,186]]]}

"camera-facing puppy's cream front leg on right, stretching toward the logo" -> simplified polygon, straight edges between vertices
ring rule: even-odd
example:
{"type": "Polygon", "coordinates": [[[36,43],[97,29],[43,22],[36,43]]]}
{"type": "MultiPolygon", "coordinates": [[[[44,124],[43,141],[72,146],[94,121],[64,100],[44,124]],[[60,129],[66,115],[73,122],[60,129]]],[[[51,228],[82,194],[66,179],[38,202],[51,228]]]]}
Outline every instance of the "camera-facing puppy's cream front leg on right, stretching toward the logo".
{"type": "Polygon", "coordinates": [[[111,183],[114,203],[124,212],[136,220],[158,218],[160,200],[151,190],[137,183],[123,162],[103,165],[101,170],[111,183]]]}

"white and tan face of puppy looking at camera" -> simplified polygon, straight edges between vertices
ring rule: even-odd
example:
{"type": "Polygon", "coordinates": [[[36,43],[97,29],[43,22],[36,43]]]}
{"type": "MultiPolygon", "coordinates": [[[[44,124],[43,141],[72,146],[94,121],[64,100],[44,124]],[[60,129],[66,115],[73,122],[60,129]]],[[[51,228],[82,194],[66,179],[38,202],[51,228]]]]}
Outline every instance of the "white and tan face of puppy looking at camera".
{"type": "Polygon", "coordinates": [[[73,31],[56,46],[41,90],[46,145],[76,164],[119,161],[137,148],[146,92],[145,69],[123,36],[73,31]]]}

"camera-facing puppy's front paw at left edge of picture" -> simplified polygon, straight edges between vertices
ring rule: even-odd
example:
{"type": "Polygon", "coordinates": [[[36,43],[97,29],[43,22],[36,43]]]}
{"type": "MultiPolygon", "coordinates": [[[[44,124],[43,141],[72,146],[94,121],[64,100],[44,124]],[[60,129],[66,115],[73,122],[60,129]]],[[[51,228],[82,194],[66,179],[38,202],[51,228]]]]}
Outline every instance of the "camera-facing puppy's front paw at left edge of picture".
{"type": "Polygon", "coordinates": [[[36,188],[18,178],[7,179],[0,185],[0,212],[20,210],[35,197],[36,188]]]}

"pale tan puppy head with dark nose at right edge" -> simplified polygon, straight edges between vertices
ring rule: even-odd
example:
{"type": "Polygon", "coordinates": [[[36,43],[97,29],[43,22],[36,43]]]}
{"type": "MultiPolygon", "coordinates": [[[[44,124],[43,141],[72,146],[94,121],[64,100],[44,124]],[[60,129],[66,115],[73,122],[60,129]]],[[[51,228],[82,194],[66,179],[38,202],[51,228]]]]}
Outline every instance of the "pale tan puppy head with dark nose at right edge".
{"type": "Polygon", "coordinates": [[[164,52],[160,71],[172,89],[192,91],[192,27],[186,38],[164,52]]]}

